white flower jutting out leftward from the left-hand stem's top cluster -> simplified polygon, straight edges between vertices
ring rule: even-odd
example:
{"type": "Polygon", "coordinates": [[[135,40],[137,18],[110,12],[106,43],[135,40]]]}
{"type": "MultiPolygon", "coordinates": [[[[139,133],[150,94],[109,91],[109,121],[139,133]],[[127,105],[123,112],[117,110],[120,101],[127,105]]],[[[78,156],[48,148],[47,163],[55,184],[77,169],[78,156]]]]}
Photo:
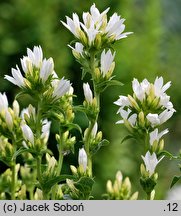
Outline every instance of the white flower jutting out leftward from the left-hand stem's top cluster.
{"type": "Polygon", "coordinates": [[[17,69],[12,68],[11,70],[12,77],[5,75],[4,78],[12,82],[14,85],[17,85],[19,87],[24,87],[25,86],[24,77],[22,76],[21,71],[18,68],[18,66],[16,66],[16,68],[17,69]]]}

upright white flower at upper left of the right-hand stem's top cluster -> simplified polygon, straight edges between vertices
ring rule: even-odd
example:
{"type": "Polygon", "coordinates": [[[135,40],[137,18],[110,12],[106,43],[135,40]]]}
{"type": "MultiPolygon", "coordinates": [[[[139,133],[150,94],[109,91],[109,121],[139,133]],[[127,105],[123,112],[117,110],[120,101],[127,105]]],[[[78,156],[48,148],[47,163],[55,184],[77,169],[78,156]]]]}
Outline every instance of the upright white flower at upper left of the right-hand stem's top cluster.
{"type": "Polygon", "coordinates": [[[141,83],[139,83],[138,80],[134,78],[132,81],[132,88],[136,97],[140,101],[143,101],[145,99],[146,93],[149,93],[150,83],[147,79],[144,79],[141,83]]]}

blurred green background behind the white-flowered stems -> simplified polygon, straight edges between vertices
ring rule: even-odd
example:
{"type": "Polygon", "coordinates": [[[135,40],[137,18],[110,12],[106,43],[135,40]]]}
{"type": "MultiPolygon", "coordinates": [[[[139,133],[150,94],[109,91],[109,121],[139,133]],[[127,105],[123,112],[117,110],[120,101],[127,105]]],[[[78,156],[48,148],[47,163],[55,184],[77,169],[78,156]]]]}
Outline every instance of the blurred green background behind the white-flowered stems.
{"type": "MultiPolygon", "coordinates": [[[[127,95],[131,91],[134,77],[140,81],[144,78],[154,81],[156,76],[163,76],[165,82],[171,80],[168,90],[171,101],[177,112],[164,125],[170,133],[166,135],[165,148],[174,154],[181,149],[181,1],[180,0],[1,0],[0,1],[0,91],[6,91],[10,101],[19,91],[8,81],[5,74],[11,68],[20,65],[20,58],[26,55],[26,48],[41,45],[44,55],[53,57],[55,70],[60,77],[70,79],[79,95],[75,103],[83,101],[80,65],[72,57],[67,44],[73,39],[60,20],[71,16],[73,12],[82,14],[88,11],[92,3],[100,11],[110,7],[109,15],[114,12],[126,18],[126,31],[134,34],[115,44],[116,78],[122,81],[123,87],[110,87],[101,97],[101,114],[99,129],[110,145],[102,148],[94,157],[94,174],[96,184],[93,195],[101,198],[105,192],[108,179],[114,179],[117,170],[129,176],[133,190],[139,190],[139,199],[143,191],[139,186],[139,166],[142,149],[132,141],[120,144],[127,132],[122,125],[115,125],[119,120],[118,109],[113,102],[118,95],[127,95]]],[[[28,100],[21,99],[21,106],[28,100]]],[[[86,127],[85,116],[78,113],[76,121],[86,127]]],[[[50,140],[51,141],[51,140],[50,140]]],[[[78,148],[78,147],[77,147],[78,148]]],[[[67,164],[76,161],[77,155],[68,156],[67,164]]],[[[180,174],[178,161],[164,159],[158,166],[160,178],[156,187],[156,199],[164,199],[170,187],[173,175],[180,174]]],[[[69,171],[69,166],[64,172],[69,171]]]]}

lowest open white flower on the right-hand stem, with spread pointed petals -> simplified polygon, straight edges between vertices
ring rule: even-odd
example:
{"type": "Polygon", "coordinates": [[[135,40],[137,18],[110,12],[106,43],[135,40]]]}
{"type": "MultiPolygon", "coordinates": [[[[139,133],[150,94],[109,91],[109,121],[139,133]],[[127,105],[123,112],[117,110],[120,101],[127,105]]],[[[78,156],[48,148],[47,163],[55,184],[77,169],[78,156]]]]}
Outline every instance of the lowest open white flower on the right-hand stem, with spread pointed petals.
{"type": "Polygon", "coordinates": [[[158,160],[156,154],[153,152],[151,155],[149,151],[146,153],[145,157],[141,157],[145,163],[146,170],[149,172],[149,177],[155,172],[157,164],[164,158],[163,156],[158,160]]]}

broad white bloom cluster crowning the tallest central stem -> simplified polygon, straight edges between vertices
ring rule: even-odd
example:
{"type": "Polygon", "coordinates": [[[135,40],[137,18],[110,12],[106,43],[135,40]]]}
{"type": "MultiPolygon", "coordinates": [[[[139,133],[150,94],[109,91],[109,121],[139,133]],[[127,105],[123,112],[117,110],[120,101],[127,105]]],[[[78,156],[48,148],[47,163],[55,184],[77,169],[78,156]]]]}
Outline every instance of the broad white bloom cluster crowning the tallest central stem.
{"type": "MultiPolygon", "coordinates": [[[[125,19],[121,18],[117,13],[114,13],[110,19],[107,18],[107,8],[102,13],[93,4],[90,12],[83,12],[82,22],[76,13],[73,13],[72,19],[66,17],[66,23],[62,24],[86,47],[102,47],[105,44],[112,43],[116,40],[127,37],[131,32],[124,32],[125,19]]],[[[76,46],[79,53],[82,47],[76,46]]]]}

